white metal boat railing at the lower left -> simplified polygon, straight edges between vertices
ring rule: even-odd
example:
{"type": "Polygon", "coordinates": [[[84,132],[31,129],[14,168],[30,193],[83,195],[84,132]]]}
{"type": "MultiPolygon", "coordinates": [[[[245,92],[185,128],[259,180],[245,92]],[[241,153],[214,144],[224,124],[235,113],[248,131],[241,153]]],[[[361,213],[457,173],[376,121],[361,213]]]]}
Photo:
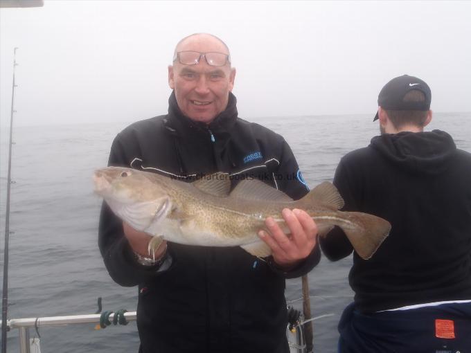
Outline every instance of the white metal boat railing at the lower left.
{"type": "MultiPolygon", "coordinates": [[[[8,329],[19,330],[19,353],[30,353],[30,328],[76,325],[76,324],[99,324],[102,314],[70,315],[70,316],[46,316],[40,318],[12,318],[7,320],[8,329]]],[[[136,320],[136,311],[124,313],[127,321],[136,320]]],[[[103,320],[103,318],[101,319],[103,320]]]]}

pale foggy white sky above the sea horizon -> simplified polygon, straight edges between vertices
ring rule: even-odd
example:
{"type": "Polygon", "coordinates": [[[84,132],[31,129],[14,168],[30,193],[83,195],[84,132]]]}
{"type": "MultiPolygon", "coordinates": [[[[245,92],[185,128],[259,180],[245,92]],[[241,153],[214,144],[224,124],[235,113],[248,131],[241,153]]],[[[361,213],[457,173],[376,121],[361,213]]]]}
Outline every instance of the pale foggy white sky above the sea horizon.
{"type": "Polygon", "coordinates": [[[0,118],[16,125],[165,114],[178,40],[231,49],[239,115],[371,114],[391,78],[416,75],[437,112],[471,111],[471,3],[44,1],[0,10],[0,118]]]}

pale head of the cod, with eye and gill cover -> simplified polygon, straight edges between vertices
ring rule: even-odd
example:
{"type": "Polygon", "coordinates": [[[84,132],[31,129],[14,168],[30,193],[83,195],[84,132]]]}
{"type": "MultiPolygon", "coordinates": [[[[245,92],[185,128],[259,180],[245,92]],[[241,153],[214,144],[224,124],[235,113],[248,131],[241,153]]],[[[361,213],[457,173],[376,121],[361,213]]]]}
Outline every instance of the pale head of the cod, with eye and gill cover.
{"type": "Polygon", "coordinates": [[[96,170],[95,192],[123,221],[145,231],[166,218],[172,208],[168,192],[150,174],[120,167],[96,170]]]}

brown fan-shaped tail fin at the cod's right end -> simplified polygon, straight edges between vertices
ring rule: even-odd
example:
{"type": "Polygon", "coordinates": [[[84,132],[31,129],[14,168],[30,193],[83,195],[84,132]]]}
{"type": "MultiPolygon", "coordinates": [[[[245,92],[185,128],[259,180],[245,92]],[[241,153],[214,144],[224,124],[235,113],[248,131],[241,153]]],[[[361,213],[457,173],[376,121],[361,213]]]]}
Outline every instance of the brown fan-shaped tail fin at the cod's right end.
{"type": "Polygon", "coordinates": [[[357,226],[344,228],[345,235],[353,248],[364,260],[368,260],[377,251],[391,231],[389,221],[362,212],[345,212],[357,226]]]}

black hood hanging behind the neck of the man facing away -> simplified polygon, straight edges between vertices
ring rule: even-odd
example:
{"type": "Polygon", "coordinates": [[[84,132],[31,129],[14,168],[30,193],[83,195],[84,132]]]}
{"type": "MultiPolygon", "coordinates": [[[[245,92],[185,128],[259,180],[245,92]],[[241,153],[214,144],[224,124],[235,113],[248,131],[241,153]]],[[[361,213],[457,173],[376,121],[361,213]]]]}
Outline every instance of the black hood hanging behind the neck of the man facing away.
{"type": "Polygon", "coordinates": [[[373,137],[370,146],[414,174],[440,174],[448,169],[456,153],[452,136],[440,130],[383,134],[373,137]]]}

